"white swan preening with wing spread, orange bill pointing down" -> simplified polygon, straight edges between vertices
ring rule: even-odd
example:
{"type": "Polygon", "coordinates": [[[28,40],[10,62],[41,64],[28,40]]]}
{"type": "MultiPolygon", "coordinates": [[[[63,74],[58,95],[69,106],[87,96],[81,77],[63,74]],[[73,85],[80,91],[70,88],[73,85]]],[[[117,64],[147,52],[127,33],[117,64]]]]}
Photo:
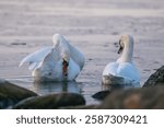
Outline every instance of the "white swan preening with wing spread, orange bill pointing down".
{"type": "Polygon", "coordinates": [[[35,81],[73,81],[84,66],[84,56],[60,34],[52,36],[54,46],[25,57],[35,81]]]}

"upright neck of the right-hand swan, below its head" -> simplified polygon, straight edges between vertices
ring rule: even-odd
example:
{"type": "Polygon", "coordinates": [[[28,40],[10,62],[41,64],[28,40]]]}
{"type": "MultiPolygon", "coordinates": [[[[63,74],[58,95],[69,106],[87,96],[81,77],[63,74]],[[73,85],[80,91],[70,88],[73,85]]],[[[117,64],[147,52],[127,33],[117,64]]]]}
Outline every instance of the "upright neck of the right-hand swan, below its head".
{"type": "Polygon", "coordinates": [[[118,62],[132,62],[133,55],[133,43],[125,43],[124,51],[121,57],[117,60],[118,62]]]}

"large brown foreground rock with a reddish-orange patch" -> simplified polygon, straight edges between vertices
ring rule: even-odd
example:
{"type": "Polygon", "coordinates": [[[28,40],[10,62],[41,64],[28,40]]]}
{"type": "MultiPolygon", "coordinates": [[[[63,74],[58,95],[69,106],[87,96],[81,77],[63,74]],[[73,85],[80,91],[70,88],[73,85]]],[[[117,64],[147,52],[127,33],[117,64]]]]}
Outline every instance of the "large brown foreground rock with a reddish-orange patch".
{"type": "Polygon", "coordinates": [[[97,107],[101,109],[164,108],[164,86],[115,91],[97,107]]]}

